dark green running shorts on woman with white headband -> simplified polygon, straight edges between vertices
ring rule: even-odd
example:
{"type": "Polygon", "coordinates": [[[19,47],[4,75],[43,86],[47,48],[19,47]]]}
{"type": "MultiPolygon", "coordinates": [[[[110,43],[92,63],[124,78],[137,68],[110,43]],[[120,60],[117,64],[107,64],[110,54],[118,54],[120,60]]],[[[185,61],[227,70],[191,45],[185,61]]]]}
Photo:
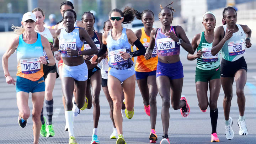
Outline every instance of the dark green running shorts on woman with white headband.
{"type": "Polygon", "coordinates": [[[220,66],[211,70],[202,70],[196,68],[196,82],[203,81],[208,83],[213,79],[220,79],[220,66]]]}

